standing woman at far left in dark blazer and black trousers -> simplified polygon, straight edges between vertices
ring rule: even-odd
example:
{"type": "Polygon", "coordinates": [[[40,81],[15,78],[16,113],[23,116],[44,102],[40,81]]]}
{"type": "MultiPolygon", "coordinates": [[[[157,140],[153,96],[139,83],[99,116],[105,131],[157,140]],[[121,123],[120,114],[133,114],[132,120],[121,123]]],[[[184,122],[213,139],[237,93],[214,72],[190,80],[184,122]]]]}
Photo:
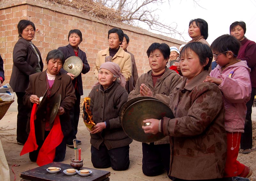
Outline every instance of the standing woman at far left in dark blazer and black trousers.
{"type": "Polygon", "coordinates": [[[35,24],[22,19],[18,23],[19,40],[13,48],[13,66],[10,86],[17,95],[17,143],[27,141],[27,118],[30,111],[23,104],[23,96],[29,83],[29,75],[43,71],[43,60],[38,48],[31,40],[35,37],[35,24]]]}

